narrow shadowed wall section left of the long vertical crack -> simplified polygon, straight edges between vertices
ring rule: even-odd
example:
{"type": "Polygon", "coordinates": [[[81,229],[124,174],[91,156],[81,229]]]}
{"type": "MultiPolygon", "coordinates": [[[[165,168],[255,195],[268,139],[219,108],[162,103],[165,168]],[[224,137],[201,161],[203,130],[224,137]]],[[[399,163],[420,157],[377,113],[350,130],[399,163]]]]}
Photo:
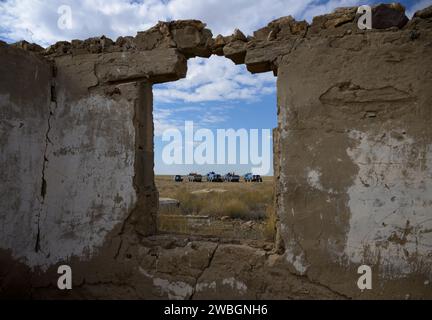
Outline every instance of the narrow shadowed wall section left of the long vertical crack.
{"type": "Polygon", "coordinates": [[[39,248],[46,192],[52,66],[9,46],[0,46],[0,61],[0,251],[29,262],[39,248]]]}

